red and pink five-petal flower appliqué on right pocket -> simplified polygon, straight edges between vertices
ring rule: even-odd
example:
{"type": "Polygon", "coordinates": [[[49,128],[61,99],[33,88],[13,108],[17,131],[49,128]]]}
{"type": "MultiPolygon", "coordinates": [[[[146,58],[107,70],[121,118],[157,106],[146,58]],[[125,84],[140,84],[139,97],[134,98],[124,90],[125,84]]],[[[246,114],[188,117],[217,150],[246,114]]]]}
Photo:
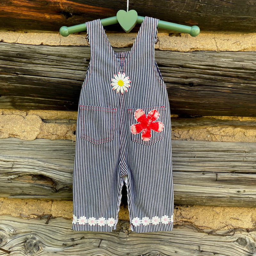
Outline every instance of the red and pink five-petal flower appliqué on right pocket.
{"type": "Polygon", "coordinates": [[[139,124],[131,125],[132,134],[138,134],[141,132],[141,140],[149,141],[151,138],[151,130],[155,132],[162,132],[164,124],[162,122],[155,122],[160,116],[156,109],[148,112],[148,115],[144,113],[142,109],[137,109],[134,113],[134,117],[139,124]]]}

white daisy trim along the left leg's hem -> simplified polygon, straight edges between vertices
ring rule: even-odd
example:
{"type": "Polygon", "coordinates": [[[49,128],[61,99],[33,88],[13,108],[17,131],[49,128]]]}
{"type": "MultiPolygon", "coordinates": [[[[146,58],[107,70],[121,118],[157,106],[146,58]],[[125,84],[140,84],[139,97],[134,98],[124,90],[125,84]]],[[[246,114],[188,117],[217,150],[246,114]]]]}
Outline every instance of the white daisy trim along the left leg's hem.
{"type": "Polygon", "coordinates": [[[114,227],[116,223],[116,220],[114,218],[108,218],[108,220],[106,220],[103,217],[100,217],[98,220],[96,220],[96,218],[94,217],[90,217],[89,219],[87,219],[84,216],[81,216],[80,218],[77,218],[76,215],[73,214],[73,221],[72,224],[78,224],[78,225],[90,225],[90,226],[105,226],[108,225],[109,227],[114,227]]]}

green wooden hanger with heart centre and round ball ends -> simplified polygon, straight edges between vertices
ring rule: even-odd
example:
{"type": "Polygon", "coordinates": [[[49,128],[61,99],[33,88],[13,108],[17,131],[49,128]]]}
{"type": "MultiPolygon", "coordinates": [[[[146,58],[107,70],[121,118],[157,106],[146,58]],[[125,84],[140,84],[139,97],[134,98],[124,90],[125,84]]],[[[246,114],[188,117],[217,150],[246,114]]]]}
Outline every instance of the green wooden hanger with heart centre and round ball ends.
{"type": "MultiPolygon", "coordinates": [[[[102,26],[119,23],[120,26],[124,29],[124,31],[126,33],[129,33],[132,30],[132,28],[134,28],[136,23],[141,24],[145,17],[138,16],[135,10],[128,11],[128,5],[129,5],[129,0],[127,0],[127,12],[125,12],[124,10],[119,10],[116,13],[116,16],[100,20],[102,26]]],[[[190,36],[198,36],[200,33],[200,28],[197,26],[189,27],[189,26],[180,25],[180,24],[162,21],[162,20],[158,21],[157,27],[172,30],[172,31],[187,33],[190,36]]],[[[85,23],[79,24],[76,26],[71,26],[71,27],[63,26],[60,28],[60,35],[68,36],[69,34],[81,32],[81,31],[86,31],[85,23]]]]}

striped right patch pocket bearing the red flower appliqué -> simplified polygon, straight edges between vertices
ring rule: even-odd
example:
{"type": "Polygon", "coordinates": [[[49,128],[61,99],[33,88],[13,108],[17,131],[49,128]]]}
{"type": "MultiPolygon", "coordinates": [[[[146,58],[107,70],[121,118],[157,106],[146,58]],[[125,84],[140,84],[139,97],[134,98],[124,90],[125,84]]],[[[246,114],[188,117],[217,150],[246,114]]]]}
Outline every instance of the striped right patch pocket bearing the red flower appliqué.
{"type": "Polygon", "coordinates": [[[152,145],[164,138],[165,107],[129,108],[131,139],[143,145],[152,145]]]}

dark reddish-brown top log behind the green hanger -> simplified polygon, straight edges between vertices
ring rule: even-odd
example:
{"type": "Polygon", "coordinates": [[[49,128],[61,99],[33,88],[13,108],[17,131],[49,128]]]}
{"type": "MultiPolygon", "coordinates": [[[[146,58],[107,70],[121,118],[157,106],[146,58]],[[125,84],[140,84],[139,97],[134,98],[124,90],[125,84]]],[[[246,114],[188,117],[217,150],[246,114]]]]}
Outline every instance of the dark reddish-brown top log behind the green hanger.
{"type": "MultiPolygon", "coordinates": [[[[57,32],[61,26],[73,26],[89,20],[116,16],[120,9],[126,10],[126,1],[118,4],[113,0],[3,1],[0,29],[57,32]]],[[[151,16],[189,26],[198,25],[201,31],[248,33],[256,29],[256,6],[250,0],[133,0],[130,1],[129,10],[131,9],[136,10],[140,16],[151,16]]],[[[108,29],[121,30],[119,25],[109,26],[108,29]]]]}

